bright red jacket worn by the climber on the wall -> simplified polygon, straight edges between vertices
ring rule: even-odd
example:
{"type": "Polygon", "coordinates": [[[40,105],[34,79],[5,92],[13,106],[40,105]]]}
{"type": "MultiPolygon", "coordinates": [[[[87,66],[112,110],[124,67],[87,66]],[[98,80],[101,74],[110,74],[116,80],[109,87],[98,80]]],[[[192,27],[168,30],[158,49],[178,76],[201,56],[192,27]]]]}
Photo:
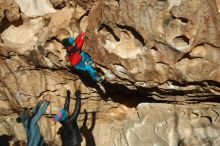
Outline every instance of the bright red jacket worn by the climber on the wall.
{"type": "MultiPolygon", "coordinates": [[[[83,45],[83,37],[84,37],[85,33],[81,32],[75,39],[75,46],[78,49],[77,52],[71,52],[71,54],[68,57],[69,62],[71,63],[71,65],[76,65],[77,63],[79,63],[82,60],[82,56],[81,56],[81,49],[82,49],[82,45],[83,45]]],[[[74,46],[70,46],[68,47],[68,50],[73,49],[74,46]]]]}

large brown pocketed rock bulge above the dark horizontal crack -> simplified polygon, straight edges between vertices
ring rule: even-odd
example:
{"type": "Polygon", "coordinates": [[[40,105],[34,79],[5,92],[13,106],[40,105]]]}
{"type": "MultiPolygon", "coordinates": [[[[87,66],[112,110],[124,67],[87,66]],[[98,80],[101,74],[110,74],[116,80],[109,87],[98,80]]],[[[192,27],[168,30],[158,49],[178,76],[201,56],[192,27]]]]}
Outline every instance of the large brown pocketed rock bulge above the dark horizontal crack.
{"type": "Polygon", "coordinates": [[[219,81],[215,1],[102,1],[90,15],[86,48],[114,80],[163,90],[219,81]]]}

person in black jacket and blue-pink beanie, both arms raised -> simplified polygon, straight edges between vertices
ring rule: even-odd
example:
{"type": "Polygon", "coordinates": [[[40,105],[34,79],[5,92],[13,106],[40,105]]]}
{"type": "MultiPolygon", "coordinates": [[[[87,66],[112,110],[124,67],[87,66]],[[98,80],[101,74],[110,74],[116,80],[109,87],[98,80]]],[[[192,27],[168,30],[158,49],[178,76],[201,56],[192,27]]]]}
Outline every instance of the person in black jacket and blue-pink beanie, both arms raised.
{"type": "Polygon", "coordinates": [[[82,141],[80,129],[77,125],[77,117],[81,108],[80,90],[76,90],[75,96],[75,109],[71,115],[69,115],[70,91],[67,90],[64,108],[59,110],[58,113],[54,116],[54,121],[59,121],[62,124],[62,127],[59,129],[59,134],[61,135],[63,146],[80,146],[82,141]]]}

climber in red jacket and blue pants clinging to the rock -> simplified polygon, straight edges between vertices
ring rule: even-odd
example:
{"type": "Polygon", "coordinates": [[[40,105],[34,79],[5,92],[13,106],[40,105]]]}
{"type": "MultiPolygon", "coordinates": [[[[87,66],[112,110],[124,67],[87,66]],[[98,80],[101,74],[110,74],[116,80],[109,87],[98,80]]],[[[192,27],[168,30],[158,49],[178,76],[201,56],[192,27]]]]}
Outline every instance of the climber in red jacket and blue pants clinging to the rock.
{"type": "Polygon", "coordinates": [[[93,80],[102,82],[104,77],[99,77],[97,75],[97,72],[93,68],[93,61],[89,55],[82,50],[84,35],[85,33],[81,32],[75,40],[73,37],[61,38],[61,43],[67,50],[67,60],[74,69],[88,72],[93,80]]]}

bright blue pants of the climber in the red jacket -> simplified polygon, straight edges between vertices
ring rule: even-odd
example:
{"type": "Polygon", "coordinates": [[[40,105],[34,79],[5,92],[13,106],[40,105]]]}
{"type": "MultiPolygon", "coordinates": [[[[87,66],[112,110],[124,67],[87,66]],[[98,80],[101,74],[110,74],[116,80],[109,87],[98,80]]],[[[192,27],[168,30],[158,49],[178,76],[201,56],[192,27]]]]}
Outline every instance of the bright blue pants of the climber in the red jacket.
{"type": "Polygon", "coordinates": [[[76,70],[82,70],[82,71],[86,71],[89,73],[89,75],[92,77],[93,80],[97,79],[97,74],[96,71],[94,70],[94,68],[92,68],[91,66],[85,64],[85,62],[90,62],[92,61],[91,58],[89,57],[88,54],[86,54],[85,52],[81,52],[81,56],[82,56],[82,60],[77,63],[76,65],[74,65],[74,68],[76,70]]]}

